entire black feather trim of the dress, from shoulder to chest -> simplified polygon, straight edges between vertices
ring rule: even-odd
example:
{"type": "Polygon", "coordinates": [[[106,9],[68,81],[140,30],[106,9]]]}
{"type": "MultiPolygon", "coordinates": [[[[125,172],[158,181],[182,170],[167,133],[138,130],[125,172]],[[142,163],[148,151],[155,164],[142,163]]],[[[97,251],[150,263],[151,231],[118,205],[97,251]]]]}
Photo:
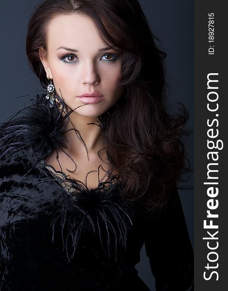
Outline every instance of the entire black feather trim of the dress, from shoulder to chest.
{"type": "MultiPolygon", "coordinates": [[[[63,139],[63,134],[69,119],[68,116],[62,115],[63,110],[67,112],[62,99],[59,104],[54,102],[54,106],[49,107],[45,96],[37,94],[31,105],[0,124],[0,167],[18,151],[31,150],[33,167],[40,162],[40,171],[46,173],[43,181],[51,179],[61,191],[67,192],[62,209],[54,213],[50,224],[52,242],[56,228],[59,228],[63,250],[65,249],[70,261],[74,257],[82,233],[85,237],[86,234],[92,233],[94,238],[98,238],[106,255],[116,260],[117,248],[127,247],[127,233],[132,227],[130,211],[133,208],[129,207],[129,201],[124,200],[122,185],[115,176],[111,176],[110,181],[99,183],[97,188],[88,189],[81,181],[68,179],[61,171],[50,175],[44,159],[54,149],[66,148],[67,140],[63,139]],[[23,114],[17,117],[19,113],[23,114]],[[63,186],[64,183],[70,184],[70,191],[63,186]]],[[[39,181],[41,180],[39,177],[39,181]]]]}

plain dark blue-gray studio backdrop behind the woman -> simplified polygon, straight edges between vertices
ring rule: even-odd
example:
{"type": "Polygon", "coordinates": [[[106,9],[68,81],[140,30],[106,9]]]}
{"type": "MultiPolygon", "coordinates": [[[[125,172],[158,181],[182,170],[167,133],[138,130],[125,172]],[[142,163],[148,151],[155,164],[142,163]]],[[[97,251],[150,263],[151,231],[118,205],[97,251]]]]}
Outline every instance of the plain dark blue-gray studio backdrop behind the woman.
{"type": "MultiPolygon", "coordinates": [[[[38,2],[39,0],[1,1],[0,122],[28,104],[36,91],[42,89],[38,78],[29,69],[25,51],[28,19],[38,2]],[[19,96],[25,97],[17,98],[19,96]]],[[[171,88],[170,98],[174,102],[182,102],[190,111],[188,127],[193,129],[194,1],[140,0],[140,3],[151,30],[161,39],[159,47],[167,53],[166,69],[167,81],[171,88]]],[[[193,160],[193,137],[188,151],[193,160]]],[[[194,244],[193,190],[179,190],[179,194],[190,238],[194,244]]],[[[154,291],[154,279],[144,247],[141,251],[141,261],[136,268],[140,277],[151,291],[154,291]]]]}

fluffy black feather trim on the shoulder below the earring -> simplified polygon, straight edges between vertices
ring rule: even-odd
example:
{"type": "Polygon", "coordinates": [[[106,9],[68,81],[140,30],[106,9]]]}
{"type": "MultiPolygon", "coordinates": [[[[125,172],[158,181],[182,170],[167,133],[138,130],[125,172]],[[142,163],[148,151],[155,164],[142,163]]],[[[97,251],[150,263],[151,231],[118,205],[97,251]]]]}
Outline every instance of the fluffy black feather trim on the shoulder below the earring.
{"type": "Polygon", "coordinates": [[[49,107],[46,94],[37,94],[31,100],[31,105],[0,124],[0,166],[18,150],[32,148],[42,159],[54,149],[66,148],[63,134],[69,119],[62,115],[66,110],[63,100],[54,102],[53,107],[49,107]],[[22,115],[16,117],[18,114],[22,115]]]}

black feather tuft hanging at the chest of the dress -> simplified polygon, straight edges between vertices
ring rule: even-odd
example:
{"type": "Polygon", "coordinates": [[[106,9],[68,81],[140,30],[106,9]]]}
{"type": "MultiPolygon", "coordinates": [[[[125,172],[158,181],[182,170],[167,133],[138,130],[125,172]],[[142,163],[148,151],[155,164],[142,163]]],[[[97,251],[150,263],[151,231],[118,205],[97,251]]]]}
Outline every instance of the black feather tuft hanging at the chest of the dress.
{"type": "Polygon", "coordinates": [[[129,205],[121,198],[119,191],[118,183],[103,189],[81,189],[80,193],[77,191],[70,194],[71,200],[67,200],[63,209],[55,213],[50,225],[52,242],[55,224],[60,221],[63,250],[68,261],[74,257],[81,233],[97,234],[102,249],[108,257],[114,256],[115,261],[117,245],[127,248],[127,233],[131,229],[132,220],[127,211],[129,205]],[[69,245],[73,249],[70,256],[69,245]]]}

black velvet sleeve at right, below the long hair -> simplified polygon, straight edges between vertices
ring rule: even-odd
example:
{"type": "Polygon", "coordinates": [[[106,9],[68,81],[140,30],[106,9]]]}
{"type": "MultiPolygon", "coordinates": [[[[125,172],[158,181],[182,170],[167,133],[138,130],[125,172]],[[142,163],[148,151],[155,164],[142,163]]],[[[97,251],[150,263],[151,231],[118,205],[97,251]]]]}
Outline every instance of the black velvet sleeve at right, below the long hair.
{"type": "Polygon", "coordinates": [[[193,291],[194,253],[176,185],[144,232],[156,291],[193,291]]]}

